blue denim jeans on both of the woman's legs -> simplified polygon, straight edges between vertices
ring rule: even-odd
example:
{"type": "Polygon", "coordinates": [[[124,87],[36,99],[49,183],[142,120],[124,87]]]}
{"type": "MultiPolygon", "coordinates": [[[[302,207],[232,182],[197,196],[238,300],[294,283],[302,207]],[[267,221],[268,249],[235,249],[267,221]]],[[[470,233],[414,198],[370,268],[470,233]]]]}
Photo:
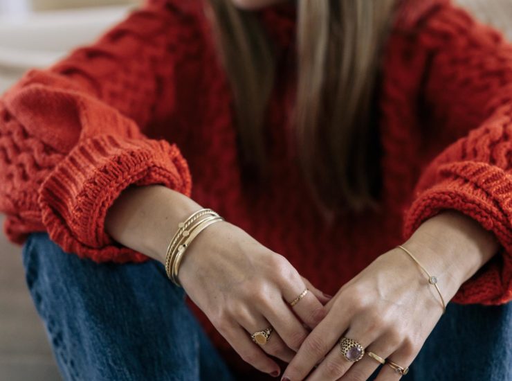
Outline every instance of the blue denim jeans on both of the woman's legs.
{"type": "MultiPolygon", "coordinates": [[[[235,379],[156,260],[97,264],[47,233],[31,233],[23,256],[64,380],[235,379]]],[[[450,303],[402,380],[506,381],[511,367],[512,304],[450,303]]]]}

